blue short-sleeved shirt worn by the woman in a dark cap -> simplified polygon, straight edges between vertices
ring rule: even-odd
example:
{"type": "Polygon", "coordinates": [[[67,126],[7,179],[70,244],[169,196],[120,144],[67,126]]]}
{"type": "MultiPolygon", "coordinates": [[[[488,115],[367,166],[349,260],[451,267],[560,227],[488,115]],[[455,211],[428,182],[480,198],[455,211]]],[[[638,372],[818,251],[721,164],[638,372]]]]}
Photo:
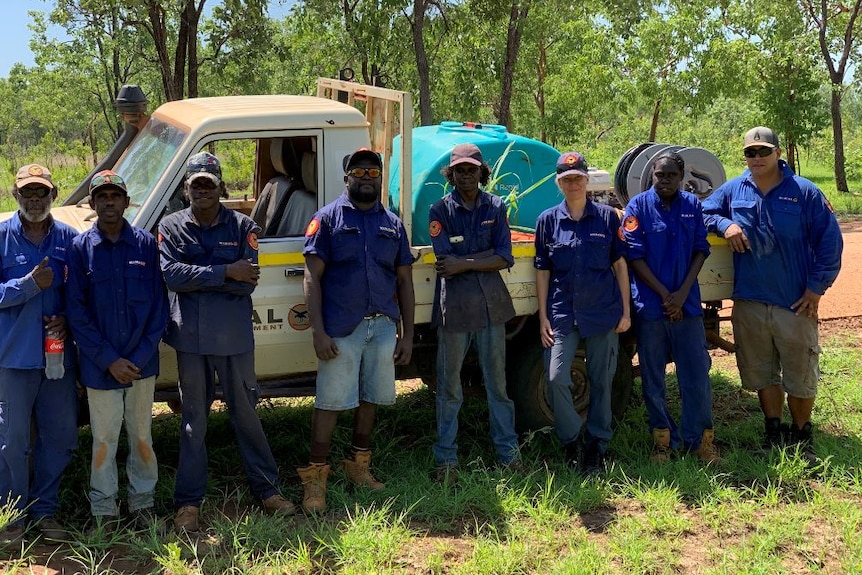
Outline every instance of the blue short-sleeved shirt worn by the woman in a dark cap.
{"type": "Polygon", "coordinates": [[[616,328],[623,300],[611,266],[624,255],[620,217],[610,206],[587,200],[578,221],[565,201],[539,214],[533,265],[551,272],[547,313],[555,334],[568,335],[576,322],[583,337],[616,328]]]}

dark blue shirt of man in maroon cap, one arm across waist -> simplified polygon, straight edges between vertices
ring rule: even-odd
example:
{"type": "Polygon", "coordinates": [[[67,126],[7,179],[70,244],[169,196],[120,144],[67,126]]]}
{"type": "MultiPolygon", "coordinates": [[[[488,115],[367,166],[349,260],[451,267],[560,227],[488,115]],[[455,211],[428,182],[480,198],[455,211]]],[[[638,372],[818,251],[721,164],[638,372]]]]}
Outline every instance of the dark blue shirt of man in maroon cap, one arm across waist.
{"type": "MultiPolygon", "coordinates": [[[[479,192],[473,209],[458,190],[434,202],[428,212],[434,254],[463,257],[498,255],[512,267],[512,232],[506,206],[498,196],[479,192]]],[[[515,317],[512,297],[500,272],[469,271],[451,278],[437,276],[431,325],[451,331],[477,331],[515,317]]]]}

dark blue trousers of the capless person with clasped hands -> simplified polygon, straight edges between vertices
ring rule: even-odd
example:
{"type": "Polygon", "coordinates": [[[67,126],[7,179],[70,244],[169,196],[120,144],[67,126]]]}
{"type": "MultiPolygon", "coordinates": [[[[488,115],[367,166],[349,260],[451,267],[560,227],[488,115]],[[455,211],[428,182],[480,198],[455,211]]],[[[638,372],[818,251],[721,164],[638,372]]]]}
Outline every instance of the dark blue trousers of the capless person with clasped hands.
{"type": "Polygon", "coordinates": [[[712,382],[709,379],[712,360],[706,350],[703,318],[685,317],[674,322],[639,318],[637,337],[650,429],[670,429],[674,449],[679,447],[680,441],[687,449],[697,449],[703,431],[712,429],[712,382]],[[681,430],[677,429],[667,408],[665,366],[668,358],[676,364],[682,403],[681,430]]]}

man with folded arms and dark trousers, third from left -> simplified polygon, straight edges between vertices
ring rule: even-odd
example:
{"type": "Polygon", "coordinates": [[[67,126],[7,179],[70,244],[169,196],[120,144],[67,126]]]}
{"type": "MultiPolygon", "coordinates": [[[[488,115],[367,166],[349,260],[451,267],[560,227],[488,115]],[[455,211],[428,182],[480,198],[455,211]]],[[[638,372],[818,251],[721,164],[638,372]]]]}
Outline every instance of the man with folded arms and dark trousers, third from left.
{"type": "Polygon", "coordinates": [[[257,286],[257,234],[251,218],[222,207],[221,164],[207,152],[189,158],[184,192],[190,207],[159,224],[159,251],[170,290],[165,343],[177,351],[183,418],[174,485],[177,531],[199,529],[206,493],[206,429],[215,382],[224,393],[252,494],[267,513],[290,515],[278,492],[278,467],[255,411],[251,293],[257,286]]]}

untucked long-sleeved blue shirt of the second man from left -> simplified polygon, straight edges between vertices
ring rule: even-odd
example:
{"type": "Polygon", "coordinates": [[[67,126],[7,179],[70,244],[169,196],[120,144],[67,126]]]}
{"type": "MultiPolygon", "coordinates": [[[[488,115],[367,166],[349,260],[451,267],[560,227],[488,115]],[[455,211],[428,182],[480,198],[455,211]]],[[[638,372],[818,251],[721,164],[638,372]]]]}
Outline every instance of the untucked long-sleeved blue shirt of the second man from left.
{"type": "Polygon", "coordinates": [[[98,224],[72,241],[69,326],[81,352],[81,383],[120,389],[108,368],[127,359],[141,379],[159,373],[159,341],[168,321],[168,297],[156,238],[125,222],[116,242],[98,224]]]}

